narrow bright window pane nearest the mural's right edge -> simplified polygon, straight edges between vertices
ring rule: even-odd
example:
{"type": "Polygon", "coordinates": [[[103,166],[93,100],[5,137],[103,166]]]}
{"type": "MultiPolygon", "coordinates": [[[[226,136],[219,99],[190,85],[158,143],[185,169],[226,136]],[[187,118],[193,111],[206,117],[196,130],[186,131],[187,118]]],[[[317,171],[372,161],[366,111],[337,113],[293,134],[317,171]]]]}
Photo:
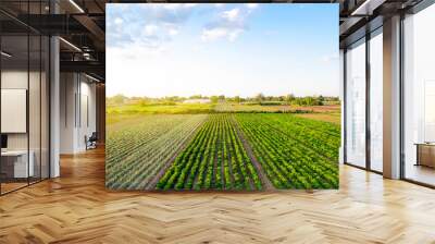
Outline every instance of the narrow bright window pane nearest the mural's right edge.
{"type": "Polygon", "coordinates": [[[346,51],[346,162],[365,167],[365,39],[346,51]]]}

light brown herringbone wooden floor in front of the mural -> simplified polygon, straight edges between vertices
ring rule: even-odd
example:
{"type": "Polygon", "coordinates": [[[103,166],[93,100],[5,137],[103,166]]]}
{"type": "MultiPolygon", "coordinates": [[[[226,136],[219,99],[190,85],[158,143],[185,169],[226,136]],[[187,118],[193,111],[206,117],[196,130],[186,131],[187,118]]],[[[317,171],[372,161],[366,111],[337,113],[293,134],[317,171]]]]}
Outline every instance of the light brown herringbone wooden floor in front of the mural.
{"type": "Polygon", "coordinates": [[[341,167],[339,191],[104,190],[104,155],[0,197],[0,243],[435,243],[435,191],[341,167]]]}

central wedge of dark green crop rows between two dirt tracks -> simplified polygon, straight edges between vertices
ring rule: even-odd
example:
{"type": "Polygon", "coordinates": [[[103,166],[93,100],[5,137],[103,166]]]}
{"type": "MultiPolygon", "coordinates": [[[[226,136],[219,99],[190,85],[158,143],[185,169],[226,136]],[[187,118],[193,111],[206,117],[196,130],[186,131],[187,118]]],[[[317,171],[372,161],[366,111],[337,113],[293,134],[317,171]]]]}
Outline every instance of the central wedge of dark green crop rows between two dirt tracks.
{"type": "Polygon", "coordinates": [[[212,114],[160,179],[158,190],[261,190],[232,115],[212,114]]]}

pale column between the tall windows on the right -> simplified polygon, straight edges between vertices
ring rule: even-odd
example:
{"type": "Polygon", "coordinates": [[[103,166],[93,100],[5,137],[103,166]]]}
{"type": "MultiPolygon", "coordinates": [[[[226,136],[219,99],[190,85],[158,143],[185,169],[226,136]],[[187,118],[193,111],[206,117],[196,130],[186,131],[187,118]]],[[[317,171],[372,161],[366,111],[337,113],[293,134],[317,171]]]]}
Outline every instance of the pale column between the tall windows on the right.
{"type": "Polygon", "coordinates": [[[400,16],[384,21],[384,176],[400,178],[400,16]]]}

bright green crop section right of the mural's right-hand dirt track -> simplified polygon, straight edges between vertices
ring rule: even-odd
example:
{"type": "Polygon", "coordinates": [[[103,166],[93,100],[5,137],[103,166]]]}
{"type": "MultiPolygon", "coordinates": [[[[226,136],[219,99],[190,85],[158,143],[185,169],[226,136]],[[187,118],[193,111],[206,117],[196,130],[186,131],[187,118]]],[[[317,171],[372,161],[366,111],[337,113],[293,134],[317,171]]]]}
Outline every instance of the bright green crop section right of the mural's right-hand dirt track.
{"type": "Polygon", "coordinates": [[[339,130],[286,114],[237,114],[276,188],[337,188],[339,130]]]}

